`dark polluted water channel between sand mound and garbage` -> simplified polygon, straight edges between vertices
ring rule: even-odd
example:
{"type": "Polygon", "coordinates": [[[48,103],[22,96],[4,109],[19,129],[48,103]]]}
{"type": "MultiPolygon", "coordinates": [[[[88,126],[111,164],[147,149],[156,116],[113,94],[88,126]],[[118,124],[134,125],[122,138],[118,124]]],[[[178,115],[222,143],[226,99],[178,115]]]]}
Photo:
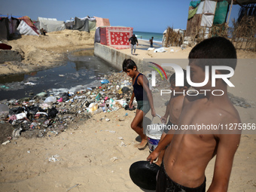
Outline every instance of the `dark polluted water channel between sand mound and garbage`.
{"type": "Polygon", "coordinates": [[[65,64],[20,75],[0,76],[0,101],[34,97],[41,92],[57,96],[99,86],[104,75],[117,72],[108,62],[93,56],[93,49],[69,54],[65,64]]]}

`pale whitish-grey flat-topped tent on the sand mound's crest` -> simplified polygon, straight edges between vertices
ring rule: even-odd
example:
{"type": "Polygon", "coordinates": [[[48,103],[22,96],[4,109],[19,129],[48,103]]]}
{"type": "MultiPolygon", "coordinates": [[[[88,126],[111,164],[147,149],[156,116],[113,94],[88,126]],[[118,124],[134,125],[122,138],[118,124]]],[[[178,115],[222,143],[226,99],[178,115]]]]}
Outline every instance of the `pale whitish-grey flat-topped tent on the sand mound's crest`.
{"type": "Polygon", "coordinates": [[[56,20],[56,18],[38,17],[38,29],[43,28],[47,32],[56,32],[66,29],[64,21],[56,20]]]}

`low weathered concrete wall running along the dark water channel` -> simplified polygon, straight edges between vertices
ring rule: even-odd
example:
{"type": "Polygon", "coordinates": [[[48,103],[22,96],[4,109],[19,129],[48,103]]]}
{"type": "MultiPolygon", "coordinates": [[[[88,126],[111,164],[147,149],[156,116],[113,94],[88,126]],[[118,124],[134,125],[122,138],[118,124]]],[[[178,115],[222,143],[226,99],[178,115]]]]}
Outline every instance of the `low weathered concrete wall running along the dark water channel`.
{"type": "Polygon", "coordinates": [[[105,46],[103,44],[96,43],[94,44],[94,55],[99,58],[109,62],[111,66],[115,69],[122,71],[123,70],[123,60],[124,59],[133,59],[136,62],[139,70],[142,70],[143,60],[136,58],[136,56],[126,55],[121,53],[119,50],[112,47],[105,46]]]}

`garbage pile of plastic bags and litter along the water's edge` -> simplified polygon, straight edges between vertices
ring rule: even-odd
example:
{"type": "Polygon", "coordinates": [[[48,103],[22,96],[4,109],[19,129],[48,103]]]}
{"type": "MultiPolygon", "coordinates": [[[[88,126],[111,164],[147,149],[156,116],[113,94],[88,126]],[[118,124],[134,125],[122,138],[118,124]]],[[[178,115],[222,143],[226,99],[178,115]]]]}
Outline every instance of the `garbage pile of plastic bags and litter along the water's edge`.
{"type": "Polygon", "coordinates": [[[113,73],[99,81],[99,87],[87,87],[76,93],[53,96],[42,92],[33,98],[2,101],[0,124],[12,125],[11,138],[41,138],[56,136],[67,130],[71,123],[85,121],[93,114],[125,108],[133,93],[131,78],[123,73],[113,73]]]}

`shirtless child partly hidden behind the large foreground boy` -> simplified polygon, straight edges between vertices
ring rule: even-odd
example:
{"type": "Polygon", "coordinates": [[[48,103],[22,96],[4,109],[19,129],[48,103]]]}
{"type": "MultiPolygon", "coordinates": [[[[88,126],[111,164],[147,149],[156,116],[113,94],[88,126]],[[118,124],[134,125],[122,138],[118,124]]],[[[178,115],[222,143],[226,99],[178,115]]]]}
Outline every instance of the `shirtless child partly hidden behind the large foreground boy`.
{"type": "Polygon", "coordinates": [[[160,142],[165,142],[163,145],[158,145],[157,148],[154,149],[154,151],[149,155],[149,159],[156,159],[158,156],[158,153],[160,151],[160,154],[158,156],[157,162],[155,162],[158,166],[162,164],[163,161],[163,155],[166,151],[166,146],[169,145],[170,139],[172,139],[172,134],[168,134],[168,127],[172,125],[178,124],[178,117],[181,114],[181,109],[184,101],[184,94],[183,92],[187,92],[187,89],[190,87],[189,84],[187,84],[187,78],[186,78],[186,71],[184,71],[184,87],[176,87],[175,86],[175,73],[171,75],[169,78],[169,82],[171,84],[171,98],[169,99],[168,104],[166,105],[166,113],[161,117],[161,121],[163,123],[167,122],[167,118],[169,116],[168,123],[166,124],[166,129],[163,130],[162,136],[160,138],[160,142]],[[164,139],[167,136],[166,139],[164,139]],[[163,140],[164,139],[164,140],[163,140]],[[163,148],[160,148],[160,146],[163,146],[163,148]]]}

